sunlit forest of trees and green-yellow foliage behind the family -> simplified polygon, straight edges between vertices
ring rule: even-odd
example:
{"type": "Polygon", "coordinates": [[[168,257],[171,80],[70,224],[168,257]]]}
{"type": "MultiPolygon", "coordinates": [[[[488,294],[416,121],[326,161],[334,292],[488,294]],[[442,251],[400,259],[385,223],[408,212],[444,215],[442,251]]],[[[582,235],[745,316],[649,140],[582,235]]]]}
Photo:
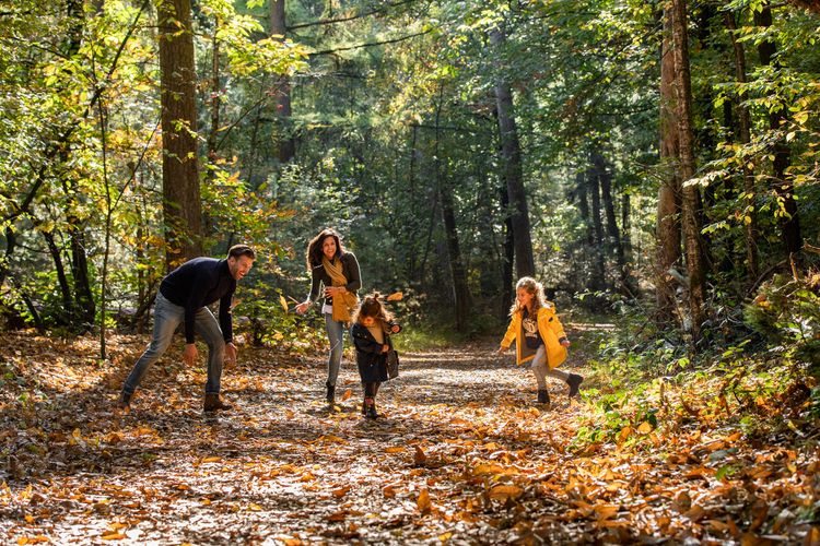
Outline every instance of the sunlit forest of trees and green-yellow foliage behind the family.
{"type": "Polygon", "coordinates": [[[524,275],[613,323],[590,440],[670,377],[815,427],[819,29],[797,0],[3,1],[2,328],[104,360],[169,268],[248,242],[238,331],[312,352],[332,226],[408,346],[500,335],[524,275]]]}

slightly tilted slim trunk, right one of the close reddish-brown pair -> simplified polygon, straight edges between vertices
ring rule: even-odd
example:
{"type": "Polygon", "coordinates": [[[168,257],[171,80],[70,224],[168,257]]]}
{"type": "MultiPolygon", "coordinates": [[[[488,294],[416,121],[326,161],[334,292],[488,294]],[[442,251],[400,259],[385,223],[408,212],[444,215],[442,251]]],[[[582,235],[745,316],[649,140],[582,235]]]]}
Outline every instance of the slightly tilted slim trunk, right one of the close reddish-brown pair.
{"type": "Polygon", "coordinates": [[[676,91],[678,106],[678,134],[680,139],[680,176],[684,181],[682,191],[681,217],[683,224],[683,246],[689,273],[689,311],[692,320],[692,340],[701,339],[705,312],[705,278],[703,247],[699,222],[700,195],[698,187],[687,186],[694,177],[694,138],[692,129],[692,86],[689,74],[689,43],[687,36],[687,2],[672,0],[672,37],[675,44],[676,91]]]}

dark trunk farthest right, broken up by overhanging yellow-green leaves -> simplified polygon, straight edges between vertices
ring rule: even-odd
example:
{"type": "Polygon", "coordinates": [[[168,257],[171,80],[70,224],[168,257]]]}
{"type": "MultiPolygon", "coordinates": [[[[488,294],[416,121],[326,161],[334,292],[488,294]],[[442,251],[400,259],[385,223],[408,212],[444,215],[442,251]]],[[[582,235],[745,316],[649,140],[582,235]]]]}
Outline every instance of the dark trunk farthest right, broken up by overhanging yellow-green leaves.
{"type": "MultiPolygon", "coordinates": [[[[754,24],[764,28],[772,26],[772,10],[768,2],[763,3],[760,11],[754,11],[754,24]]],[[[760,63],[764,67],[774,63],[776,52],[777,48],[772,40],[766,39],[758,44],[760,63]]],[[[781,131],[785,122],[786,112],[784,108],[770,111],[769,129],[771,131],[781,131]]],[[[794,195],[795,188],[786,175],[792,151],[783,138],[777,138],[772,146],[772,152],[774,153],[774,161],[772,162],[774,191],[782,203],[783,212],[785,212],[784,215],[780,216],[781,237],[789,258],[798,259],[800,248],[803,247],[803,236],[800,235],[800,221],[797,216],[797,203],[794,195]]]]}

